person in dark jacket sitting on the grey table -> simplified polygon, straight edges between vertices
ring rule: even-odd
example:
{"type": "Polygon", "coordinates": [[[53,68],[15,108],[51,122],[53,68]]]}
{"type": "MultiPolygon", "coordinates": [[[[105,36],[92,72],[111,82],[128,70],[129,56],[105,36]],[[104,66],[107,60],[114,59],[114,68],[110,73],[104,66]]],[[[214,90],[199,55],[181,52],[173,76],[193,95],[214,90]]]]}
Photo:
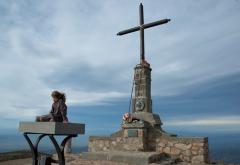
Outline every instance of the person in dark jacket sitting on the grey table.
{"type": "Polygon", "coordinates": [[[67,105],[66,96],[59,91],[53,91],[52,94],[53,104],[52,109],[47,115],[37,116],[37,122],[52,121],[52,122],[68,122],[67,118],[67,105]]]}

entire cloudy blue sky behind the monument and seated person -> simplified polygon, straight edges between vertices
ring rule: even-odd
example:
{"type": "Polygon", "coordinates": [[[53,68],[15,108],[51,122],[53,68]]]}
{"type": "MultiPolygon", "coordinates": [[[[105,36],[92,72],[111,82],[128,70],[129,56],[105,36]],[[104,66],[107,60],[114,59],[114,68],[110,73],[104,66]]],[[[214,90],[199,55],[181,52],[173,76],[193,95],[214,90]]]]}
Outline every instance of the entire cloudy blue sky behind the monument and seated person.
{"type": "Polygon", "coordinates": [[[47,114],[51,91],[67,95],[71,122],[87,134],[120,128],[128,111],[139,33],[145,30],[153,111],[169,131],[240,131],[239,0],[0,1],[0,130],[47,114]]]}

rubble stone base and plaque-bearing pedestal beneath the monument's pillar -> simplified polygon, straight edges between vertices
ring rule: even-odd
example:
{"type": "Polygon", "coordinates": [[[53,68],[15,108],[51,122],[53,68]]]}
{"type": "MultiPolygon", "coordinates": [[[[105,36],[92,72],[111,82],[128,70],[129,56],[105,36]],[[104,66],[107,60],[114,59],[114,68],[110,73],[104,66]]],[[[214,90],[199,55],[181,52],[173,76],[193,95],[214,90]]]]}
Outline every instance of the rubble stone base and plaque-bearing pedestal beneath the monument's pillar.
{"type": "MultiPolygon", "coordinates": [[[[173,159],[188,163],[209,162],[207,137],[177,137],[144,121],[123,123],[122,130],[111,136],[90,136],[88,154],[85,154],[84,158],[94,158],[97,154],[109,157],[106,152],[137,152],[139,155],[157,153],[167,154],[173,159]],[[90,156],[91,154],[94,156],[90,156]]],[[[122,159],[125,160],[123,157],[122,159]]]]}

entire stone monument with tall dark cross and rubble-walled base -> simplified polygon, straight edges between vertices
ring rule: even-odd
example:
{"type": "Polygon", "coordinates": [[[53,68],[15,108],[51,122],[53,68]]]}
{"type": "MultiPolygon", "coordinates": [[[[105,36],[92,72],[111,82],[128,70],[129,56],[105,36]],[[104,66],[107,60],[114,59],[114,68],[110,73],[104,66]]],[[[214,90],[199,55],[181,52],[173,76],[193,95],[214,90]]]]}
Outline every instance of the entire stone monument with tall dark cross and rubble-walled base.
{"type": "Polygon", "coordinates": [[[158,114],[152,110],[151,68],[144,55],[144,29],[165,24],[170,19],[144,24],[143,5],[139,6],[140,25],[119,32],[140,31],[140,64],[134,68],[134,96],[131,114],[138,120],[123,121],[121,129],[109,137],[90,136],[85,159],[105,159],[145,165],[166,155],[188,163],[208,163],[208,138],[183,138],[166,133],[158,114]]]}

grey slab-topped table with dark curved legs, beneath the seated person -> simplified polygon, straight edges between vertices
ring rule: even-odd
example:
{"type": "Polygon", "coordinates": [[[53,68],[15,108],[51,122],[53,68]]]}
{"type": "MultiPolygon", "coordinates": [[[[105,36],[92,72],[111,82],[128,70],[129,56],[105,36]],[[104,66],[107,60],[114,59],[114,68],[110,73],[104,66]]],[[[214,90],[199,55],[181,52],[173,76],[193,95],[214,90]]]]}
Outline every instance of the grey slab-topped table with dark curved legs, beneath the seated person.
{"type": "Polygon", "coordinates": [[[23,132],[32,152],[32,165],[38,165],[38,144],[40,140],[48,136],[53,143],[58,154],[58,160],[51,160],[59,165],[65,165],[64,147],[67,141],[78,134],[85,133],[85,124],[80,123],[60,123],[60,122],[20,122],[19,131],[23,132]],[[35,143],[29,138],[29,134],[39,134],[35,143]],[[57,143],[54,136],[66,136],[61,145],[57,143]]]}

